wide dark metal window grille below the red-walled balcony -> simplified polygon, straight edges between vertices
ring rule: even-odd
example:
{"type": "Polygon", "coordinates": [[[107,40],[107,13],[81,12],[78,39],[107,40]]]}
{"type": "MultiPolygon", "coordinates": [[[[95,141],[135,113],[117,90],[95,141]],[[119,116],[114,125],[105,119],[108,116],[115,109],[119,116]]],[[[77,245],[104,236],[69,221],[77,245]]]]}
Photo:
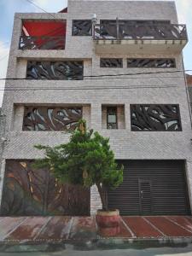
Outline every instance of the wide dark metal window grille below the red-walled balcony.
{"type": "Polygon", "coordinates": [[[83,61],[28,61],[26,79],[82,80],[83,61]]]}

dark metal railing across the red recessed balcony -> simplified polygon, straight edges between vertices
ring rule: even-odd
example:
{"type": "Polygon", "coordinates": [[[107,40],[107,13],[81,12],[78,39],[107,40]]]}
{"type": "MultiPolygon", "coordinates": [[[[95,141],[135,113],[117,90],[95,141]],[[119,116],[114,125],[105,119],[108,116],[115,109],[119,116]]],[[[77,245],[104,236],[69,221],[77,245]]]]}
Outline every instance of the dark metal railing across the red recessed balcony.
{"type": "Polygon", "coordinates": [[[65,37],[20,37],[20,49],[65,49],[65,37]]]}

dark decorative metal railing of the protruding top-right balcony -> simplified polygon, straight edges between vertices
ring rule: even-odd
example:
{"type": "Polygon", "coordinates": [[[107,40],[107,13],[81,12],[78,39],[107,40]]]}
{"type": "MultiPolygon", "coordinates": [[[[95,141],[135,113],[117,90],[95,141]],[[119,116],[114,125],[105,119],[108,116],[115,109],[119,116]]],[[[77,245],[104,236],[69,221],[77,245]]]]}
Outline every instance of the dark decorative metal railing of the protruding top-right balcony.
{"type": "Polygon", "coordinates": [[[120,20],[111,24],[96,24],[93,38],[94,40],[188,40],[185,25],[128,25],[120,20]]]}

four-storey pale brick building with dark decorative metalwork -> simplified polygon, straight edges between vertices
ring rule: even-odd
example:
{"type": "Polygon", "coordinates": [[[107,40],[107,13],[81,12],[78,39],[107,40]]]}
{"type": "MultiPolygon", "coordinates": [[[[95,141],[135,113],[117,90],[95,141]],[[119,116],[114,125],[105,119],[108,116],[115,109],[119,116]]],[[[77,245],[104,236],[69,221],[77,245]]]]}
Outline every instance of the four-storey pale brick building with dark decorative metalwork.
{"type": "Polygon", "coordinates": [[[191,120],[179,72],[187,40],[169,1],[69,0],[61,13],[15,14],[1,214],[89,215],[101,207],[95,187],[61,186],[32,168],[43,157],[33,146],[66,143],[63,131],[82,117],[110,137],[125,166],[122,185],[108,191],[109,207],[190,214],[191,120]]]}

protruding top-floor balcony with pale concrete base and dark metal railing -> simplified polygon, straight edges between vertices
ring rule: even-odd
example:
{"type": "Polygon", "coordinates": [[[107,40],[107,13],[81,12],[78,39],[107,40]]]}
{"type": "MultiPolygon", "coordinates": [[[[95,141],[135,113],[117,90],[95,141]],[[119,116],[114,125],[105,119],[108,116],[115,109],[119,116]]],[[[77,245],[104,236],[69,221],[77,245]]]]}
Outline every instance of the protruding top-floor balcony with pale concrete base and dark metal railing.
{"type": "Polygon", "coordinates": [[[93,40],[98,53],[171,50],[180,52],[188,42],[185,25],[166,22],[132,22],[105,20],[93,28],[93,40]]]}

